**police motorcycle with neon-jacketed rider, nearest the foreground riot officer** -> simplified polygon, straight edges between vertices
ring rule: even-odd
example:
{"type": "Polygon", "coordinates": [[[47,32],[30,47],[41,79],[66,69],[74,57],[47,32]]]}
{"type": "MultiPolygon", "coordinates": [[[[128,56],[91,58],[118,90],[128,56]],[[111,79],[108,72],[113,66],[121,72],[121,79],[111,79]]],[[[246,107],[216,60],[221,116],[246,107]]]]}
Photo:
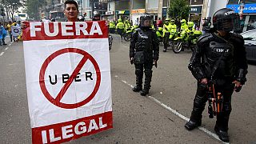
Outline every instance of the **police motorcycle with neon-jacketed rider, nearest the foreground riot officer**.
{"type": "Polygon", "coordinates": [[[189,28],[179,32],[179,37],[174,38],[173,51],[175,54],[180,53],[185,48],[194,51],[196,42],[202,31],[194,30],[194,22],[188,22],[189,28]]]}

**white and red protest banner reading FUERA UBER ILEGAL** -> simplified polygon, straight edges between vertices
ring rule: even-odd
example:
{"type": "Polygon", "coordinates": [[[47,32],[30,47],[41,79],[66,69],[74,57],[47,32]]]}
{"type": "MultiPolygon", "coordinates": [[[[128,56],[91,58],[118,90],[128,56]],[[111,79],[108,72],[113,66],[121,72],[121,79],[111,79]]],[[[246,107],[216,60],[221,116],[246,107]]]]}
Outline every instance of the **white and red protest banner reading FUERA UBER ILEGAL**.
{"type": "Polygon", "coordinates": [[[67,142],[112,128],[105,22],[26,25],[22,38],[32,142],[67,142]]]}

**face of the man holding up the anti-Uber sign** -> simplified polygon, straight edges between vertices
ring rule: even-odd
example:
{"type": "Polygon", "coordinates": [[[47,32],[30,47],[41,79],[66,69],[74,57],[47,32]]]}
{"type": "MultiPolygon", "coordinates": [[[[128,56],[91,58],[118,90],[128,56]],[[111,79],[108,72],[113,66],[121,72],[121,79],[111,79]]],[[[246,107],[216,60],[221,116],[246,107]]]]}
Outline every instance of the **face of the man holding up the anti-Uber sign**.
{"type": "Polygon", "coordinates": [[[64,14],[69,22],[75,22],[78,18],[78,9],[74,4],[66,4],[64,14]]]}

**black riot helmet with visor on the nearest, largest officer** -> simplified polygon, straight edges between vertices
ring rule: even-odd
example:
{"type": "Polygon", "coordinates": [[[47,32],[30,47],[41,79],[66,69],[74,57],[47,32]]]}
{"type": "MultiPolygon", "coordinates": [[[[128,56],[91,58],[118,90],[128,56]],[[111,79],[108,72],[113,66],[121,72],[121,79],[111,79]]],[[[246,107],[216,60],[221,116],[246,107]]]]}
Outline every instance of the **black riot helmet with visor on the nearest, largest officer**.
{"type": "Polygon", "coordinates": [[[214,30],[230,32],[238,27],[238,15],[234,10],[223,8],[215,12],[213,17],[214,30]]]}

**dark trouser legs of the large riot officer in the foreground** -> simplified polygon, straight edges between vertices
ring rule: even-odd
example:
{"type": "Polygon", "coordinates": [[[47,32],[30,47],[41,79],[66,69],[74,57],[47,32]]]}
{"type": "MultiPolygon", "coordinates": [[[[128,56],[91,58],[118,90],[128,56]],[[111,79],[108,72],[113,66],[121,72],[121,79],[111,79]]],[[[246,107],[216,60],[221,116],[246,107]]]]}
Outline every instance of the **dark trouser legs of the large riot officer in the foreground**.
{"type": "MultiPolygon", "coordinates": [[[[218,83],[218,82],[217,82],[218,83]]],[[[222,84],[214,85],[215,95],[217,93],[222,93],[222,110],[217,114],[216,126],[221,130],[228,130],[228,122],[231,113],[231,95],[234,91],[234,84],[231,81],[222,80],[222,84]]],[[[190,119],[194,122],[201,121],[202,111],[205,109],[206,102],[208,100],[207,86],[201,83],[198,83],[198,89],[194,98],[194,106],[191,113],[190,119]]],[[[217,107],[217,106],[216,106],[217,107]]]]}

